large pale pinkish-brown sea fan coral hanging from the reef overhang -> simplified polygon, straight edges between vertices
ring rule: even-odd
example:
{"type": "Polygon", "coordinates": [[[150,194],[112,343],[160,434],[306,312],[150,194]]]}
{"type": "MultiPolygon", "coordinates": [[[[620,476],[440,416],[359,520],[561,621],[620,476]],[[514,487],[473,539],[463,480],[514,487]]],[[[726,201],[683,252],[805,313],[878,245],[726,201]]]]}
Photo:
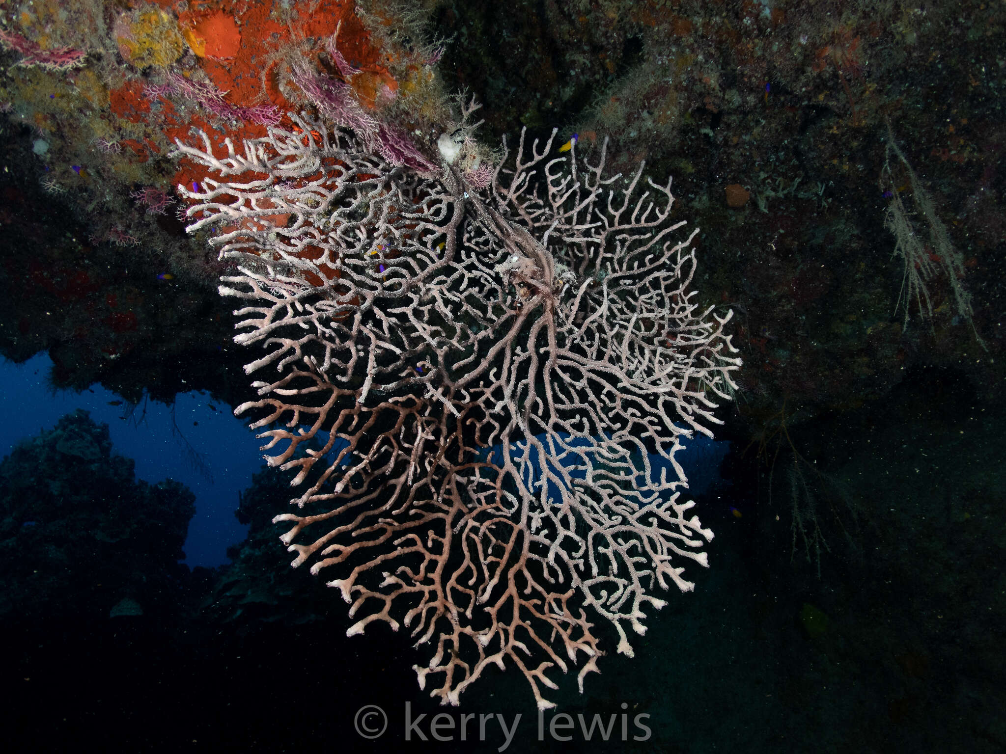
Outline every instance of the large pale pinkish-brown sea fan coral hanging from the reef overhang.
{"type": "Polygon", "coordinates": [[[688,290],[697,231],[670,182],[606,176],[606,148],[558,155],[554,133],[504,142],[475,185],[458,137],[428,172],[294,121],[243,154],[176,150],[209,174],[178,188],[188,229],[220,229],[235,342],[258,349],[236,413],[305,488],[281,539],[334,575],[349,635],[383,621],[430,647],[414,669],[443,704],[512,665],[551,707],[553,668],[581,691],[598,671],[599,618],[632,656],[658,594],[707,565],[675,453],[711,435],[740,359],[730,313],[688,290]]]}

